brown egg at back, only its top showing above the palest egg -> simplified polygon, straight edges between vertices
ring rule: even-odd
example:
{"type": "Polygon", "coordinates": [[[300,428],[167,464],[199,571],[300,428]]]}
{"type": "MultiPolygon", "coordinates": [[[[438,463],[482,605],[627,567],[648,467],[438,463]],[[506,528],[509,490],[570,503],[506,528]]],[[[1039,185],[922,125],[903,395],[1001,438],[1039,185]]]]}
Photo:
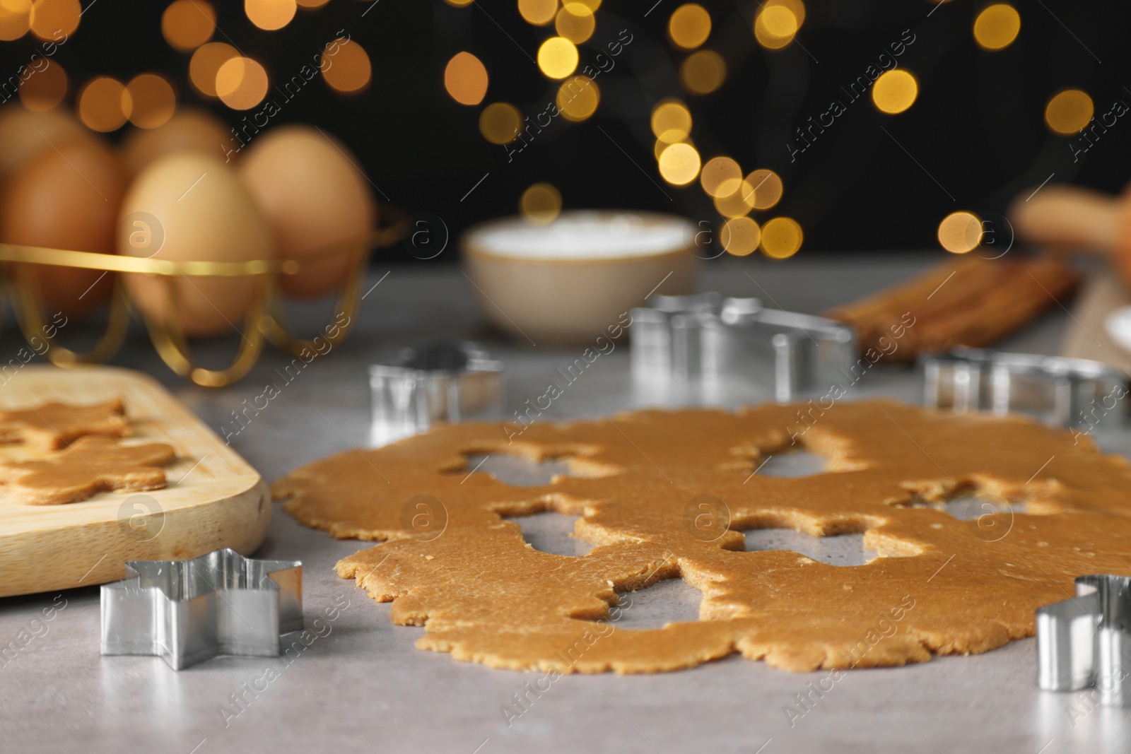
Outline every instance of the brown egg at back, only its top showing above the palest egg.
{"type": "Polygon", "coordinates": [[[176,151],[193,151],[209,157],[234,159],[240,142],[224,121],[207,110],[183,107],[163,125],[132,129],[122,141],[122,159],[130,176],[146,165],[176,151]]]}

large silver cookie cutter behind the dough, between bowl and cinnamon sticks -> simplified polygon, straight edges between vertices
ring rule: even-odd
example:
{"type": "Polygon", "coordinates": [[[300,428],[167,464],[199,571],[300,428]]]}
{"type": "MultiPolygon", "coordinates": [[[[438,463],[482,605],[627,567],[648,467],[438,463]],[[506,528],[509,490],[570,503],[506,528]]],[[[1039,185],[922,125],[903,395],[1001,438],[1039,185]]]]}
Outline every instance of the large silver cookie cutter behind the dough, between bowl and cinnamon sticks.
{"type": "Polygon", "coordinates": [[[630,332],[634,376],[745,378],[779,401],[827,388],[858,355],[848,326],[717,293],[656,296],[651,309],[632,310],[630,332]]]}

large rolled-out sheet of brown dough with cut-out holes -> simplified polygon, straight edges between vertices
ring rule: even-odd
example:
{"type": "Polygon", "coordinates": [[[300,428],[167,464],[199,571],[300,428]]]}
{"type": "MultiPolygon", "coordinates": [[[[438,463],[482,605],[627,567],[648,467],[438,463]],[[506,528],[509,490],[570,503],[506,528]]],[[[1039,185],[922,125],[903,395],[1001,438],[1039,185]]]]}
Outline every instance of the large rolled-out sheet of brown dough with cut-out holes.
{"type": "Polygon", "coordinates": [[[455,424],[312,462],[274,492],[307,526],[388,540],[338,574],[424,625],[418,648],[497,668],[650,673],[732,652],[798,671],[903,665],[1029,636],[1076,577],[1131,574],[1126,460],[1022,417],[888,401],[455,424]],[[791,449],[824,471],[757,473],[791,449]],[[517,487],[466,462],[500,453],[570,475],[517,487]],[[923,504],[969,494],[986,511],[970,520],[923,504]],[[539,511],[580,517],[594,548],[538,552],[502,520],[539,511]],[[863,532],[879,556],[744,552],[760,528],[863,532]],[[702,592],[699,621],[620,629],[616,593],[668,578],[702,592]]]}

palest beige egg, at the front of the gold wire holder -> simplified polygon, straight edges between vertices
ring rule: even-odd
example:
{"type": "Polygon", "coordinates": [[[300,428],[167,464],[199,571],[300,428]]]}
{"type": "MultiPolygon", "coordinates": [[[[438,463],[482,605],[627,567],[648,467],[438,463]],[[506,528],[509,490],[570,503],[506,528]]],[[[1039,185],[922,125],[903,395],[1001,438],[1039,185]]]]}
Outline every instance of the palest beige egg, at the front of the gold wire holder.
{"type": "MultiPolygon", "coordinates": [[[[173,261],[275,257],[267,220],[235,173],[218,157],[192,153],[161,157],[133,180],[122,200],[118,250],[173,261]]],[[[146,315],[175,318],[189,336],[211,336],[243,330],[256,278],[131,274],[126,285],[146,315]]]]}

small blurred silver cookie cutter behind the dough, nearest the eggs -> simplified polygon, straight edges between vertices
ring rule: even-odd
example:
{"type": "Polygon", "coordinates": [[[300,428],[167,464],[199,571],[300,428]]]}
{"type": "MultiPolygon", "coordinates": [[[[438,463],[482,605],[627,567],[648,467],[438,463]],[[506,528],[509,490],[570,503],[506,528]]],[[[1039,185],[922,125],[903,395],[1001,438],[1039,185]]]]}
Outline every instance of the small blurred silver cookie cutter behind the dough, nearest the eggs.
{"type": "Polygon", "coordinates": [[[503,364],[473,343],[435,340],[400,348],[369,367],[374,445],[435,422],[486,417],[503,400],[503,364]]]}

